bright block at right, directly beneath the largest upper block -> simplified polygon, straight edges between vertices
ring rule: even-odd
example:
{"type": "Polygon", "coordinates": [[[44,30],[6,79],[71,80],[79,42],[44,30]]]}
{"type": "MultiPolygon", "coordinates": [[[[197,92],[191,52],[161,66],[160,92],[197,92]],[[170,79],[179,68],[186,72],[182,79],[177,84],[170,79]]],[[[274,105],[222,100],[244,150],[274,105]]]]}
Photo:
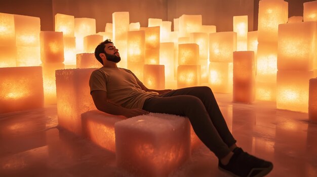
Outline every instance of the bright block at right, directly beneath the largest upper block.
{"type": "Polygon", "coordinates": [[[309,79],[312,71],[278,71],[276,108],[308,112],[309,79]]]}

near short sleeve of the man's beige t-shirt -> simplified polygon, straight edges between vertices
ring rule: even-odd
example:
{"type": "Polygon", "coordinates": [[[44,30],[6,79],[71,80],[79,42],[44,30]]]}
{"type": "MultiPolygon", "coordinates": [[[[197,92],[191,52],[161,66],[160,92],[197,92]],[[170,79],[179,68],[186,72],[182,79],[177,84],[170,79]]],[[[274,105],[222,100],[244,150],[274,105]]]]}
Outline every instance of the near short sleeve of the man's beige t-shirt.
{"type": "Polygon", "coordinates": [[[93,71],[89,79],[90,93],[95,90],[107,91],[106,85],[106,75],[100,70],[93,71]]]}

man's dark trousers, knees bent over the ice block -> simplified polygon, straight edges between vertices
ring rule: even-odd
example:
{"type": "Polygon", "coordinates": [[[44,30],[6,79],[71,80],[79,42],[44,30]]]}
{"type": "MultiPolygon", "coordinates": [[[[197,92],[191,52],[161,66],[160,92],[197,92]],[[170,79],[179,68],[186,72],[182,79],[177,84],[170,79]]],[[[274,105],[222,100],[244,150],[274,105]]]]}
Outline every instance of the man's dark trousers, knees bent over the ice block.
{"type": "Polygon", "coordinates": [[[209,87],[172,90],[146,99],[143,109],[188,117],[196,135],[219,159],[236,142],[209,87]]]}

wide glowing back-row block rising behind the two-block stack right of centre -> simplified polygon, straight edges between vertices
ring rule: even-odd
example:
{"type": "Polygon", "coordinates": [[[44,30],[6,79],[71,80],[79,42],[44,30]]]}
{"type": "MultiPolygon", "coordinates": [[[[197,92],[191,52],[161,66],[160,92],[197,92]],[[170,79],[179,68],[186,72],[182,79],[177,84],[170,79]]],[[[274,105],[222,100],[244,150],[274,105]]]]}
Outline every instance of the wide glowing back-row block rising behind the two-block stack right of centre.
{"type": "Polygon", "coordinates": [[[189,37],[189,33],[200,32],[202,23],[202,15],[182,15],[179,18],[180,37],[189,37]]]}

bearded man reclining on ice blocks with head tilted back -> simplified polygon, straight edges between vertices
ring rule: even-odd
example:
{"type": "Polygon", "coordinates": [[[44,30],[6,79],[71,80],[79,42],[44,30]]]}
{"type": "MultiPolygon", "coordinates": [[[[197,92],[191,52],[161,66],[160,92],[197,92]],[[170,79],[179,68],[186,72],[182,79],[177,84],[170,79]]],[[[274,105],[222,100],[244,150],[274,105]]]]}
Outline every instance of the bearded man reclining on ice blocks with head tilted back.
{"type": "Polygon", "coordinates": [[[221,170],[235,176],[264,176],[272,170],[271,162],[236,146],[209,87],[148,89],[130,70],[117,68],[121,57],[109,39],[96,47],[95,56],[103,65],[89,81],[97,109],[126,117],[149,112],[186,116],[196,135],[218,157],[221,170]]]}

